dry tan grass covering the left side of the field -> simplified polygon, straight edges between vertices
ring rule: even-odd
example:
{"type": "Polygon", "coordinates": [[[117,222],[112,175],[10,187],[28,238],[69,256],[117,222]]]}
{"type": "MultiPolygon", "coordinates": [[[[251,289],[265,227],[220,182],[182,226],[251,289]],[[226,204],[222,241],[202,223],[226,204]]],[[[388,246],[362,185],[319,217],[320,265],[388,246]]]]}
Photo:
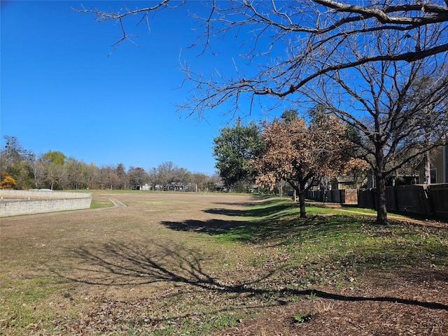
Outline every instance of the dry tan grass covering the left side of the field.
{"type": "MultiPolygon", "coordinates": [[[[246,195],[94,193],[100,201],[111,197],[127,207],[2,218],[3,332],[60,334],[76,328],[101,332],[104,325],[87,328],[85,321],[109,309],[105,302],[120,310],[121,304],[145,305],[141,302],[147,300],[148,306],[166,295],[166,303],[172,304],[170,300],[181,299],[192,288],[204,290],[202,282],[214,286],[207,277],[242,251],[223,248],[205,234],[170,230],[163,223],[225,220],[227,216],[206,210],[225,204],[242,208],[249,200],[246,195]]],[[[179,302],[165,311],[144,307],[140,313],[146,318],[134,318],[135,328],[121,326],[116,332],[162,328],[164,318],[192,314],[190,310],[203,300],[199,295],[190,306],[179,302]],[[141,326],[146,320],[151,321],[148,328],[141,326]]]]}

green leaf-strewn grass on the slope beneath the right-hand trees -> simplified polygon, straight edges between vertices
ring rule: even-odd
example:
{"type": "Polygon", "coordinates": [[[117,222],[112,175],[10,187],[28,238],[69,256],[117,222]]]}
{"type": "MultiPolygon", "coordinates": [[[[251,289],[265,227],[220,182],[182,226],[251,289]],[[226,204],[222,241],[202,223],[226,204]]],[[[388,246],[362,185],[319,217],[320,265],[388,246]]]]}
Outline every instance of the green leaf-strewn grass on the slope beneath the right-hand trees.
{"type": "MultiPolygon", "coordinates": [[[[368,269],[448,266],[447,230],[398,222],[377,225],[374,217],[321,207],[307,207],[308,218],[299,214],[288,200],[262,202],[242,215],[246,222],[221,230],[216,239],[282,246],[286,261],[280,274],[302,272],[300,279],[278,279],[288,288],[342,288],[350,285],[351,274],[368,269]]],[[[248,265],[259,263],[248,260],[248,265]]]]}

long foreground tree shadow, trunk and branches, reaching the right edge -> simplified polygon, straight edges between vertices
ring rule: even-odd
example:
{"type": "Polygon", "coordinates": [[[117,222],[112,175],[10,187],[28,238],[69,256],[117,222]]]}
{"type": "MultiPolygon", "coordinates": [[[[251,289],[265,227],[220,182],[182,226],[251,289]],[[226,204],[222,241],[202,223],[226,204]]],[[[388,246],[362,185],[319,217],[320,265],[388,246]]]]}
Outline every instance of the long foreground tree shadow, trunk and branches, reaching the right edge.
{"type": "MultiPolygon", "coordinates": [[[[185,283],[214,293],[262,295],[264,297],[276,295],[279,298],[313,295],[330,300],[391,302],[448,311],[447,304],[407,300],[400,297],[341,295],[314,289],[283,288],[278,290],[275,284],[269,288],[269,278],[276,272],[276,269],[271,269],[262,276],[246,279],[246,281],[232,282],[218,279],[204,269],[203,253],[175,243],[169,244],[169,246],[171,247],[150,241],[146,244],[132,244],[132,246],[112,242],[99,247],[80,247],[69,251],[67,255],[68,258],[75,261],[78,267],[70,269],[70,275],[59,275],[70,281],[92,285],[129,286],[172,282],[185,283]],[[262,283],[261,286],[260,283],[262,283]]],[[[280,301],[279,304],[281,304],[280,301]]]]}

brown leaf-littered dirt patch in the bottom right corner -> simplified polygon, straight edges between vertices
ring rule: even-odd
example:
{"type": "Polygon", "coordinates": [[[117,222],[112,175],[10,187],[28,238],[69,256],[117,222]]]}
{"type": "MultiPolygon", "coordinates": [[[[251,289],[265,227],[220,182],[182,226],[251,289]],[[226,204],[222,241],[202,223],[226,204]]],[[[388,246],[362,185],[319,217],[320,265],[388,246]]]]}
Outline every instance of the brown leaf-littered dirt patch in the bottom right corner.
{"type": "Polygon", "coordinates": [[[362,279],[311,290],[215,335],[448,335],[447,272],[394,269],[362,279]]]}

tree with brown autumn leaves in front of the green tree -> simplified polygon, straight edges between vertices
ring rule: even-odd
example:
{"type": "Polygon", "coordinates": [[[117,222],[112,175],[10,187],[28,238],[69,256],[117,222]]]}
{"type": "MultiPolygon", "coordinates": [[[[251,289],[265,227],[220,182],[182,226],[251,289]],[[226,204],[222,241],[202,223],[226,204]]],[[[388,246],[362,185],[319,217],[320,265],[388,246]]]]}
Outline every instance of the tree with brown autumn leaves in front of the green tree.
{"type": "Polygon", "coordinates": [[[276,182],[287,181],[297,193],[300,217],[306,218],[307,190],[323,176],[342,172],[349,160],[344,134],[345,126],[323,111],[315,113],[309,125],[304,118],[263,123],[267,151],[254,162],[257,183],[273,189],[276,182]]]}

